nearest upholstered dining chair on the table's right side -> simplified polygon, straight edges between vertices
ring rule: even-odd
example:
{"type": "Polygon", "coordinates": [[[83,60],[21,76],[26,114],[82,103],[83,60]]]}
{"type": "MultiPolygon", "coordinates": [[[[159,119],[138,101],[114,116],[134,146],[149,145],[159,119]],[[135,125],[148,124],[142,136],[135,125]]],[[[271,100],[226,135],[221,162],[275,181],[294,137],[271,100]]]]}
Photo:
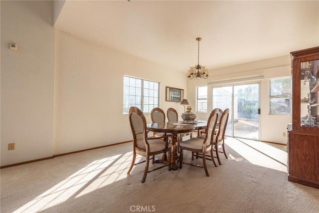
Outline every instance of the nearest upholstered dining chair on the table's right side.
{"type": "MultiPolygon", "coordinates": [[[[214,132],[215,132],[215,128],[216,128],[216,123],[217,123],[217,118],[218,118],[218,114],[216,110],[213,110],[208,118],[207,121],[207,133],[206,133],[206,137],[205,139],[200,139],[200,138],[191,138],[189,140],[186,141],[182,141],[180,142],[180,155],[179,155],[179,168],[182,168],[182,164],[183,164],[183,153],[184,150],[188,150],[191,151],[192,153],[196,152],[196,153],[201,153],[202,154],[202,159],[203,159],[203,166],[199,166],[199,165],[195,165],[195,164],[188,164],[190,166],[199,166],[204,168],[206,176],[209,177],[209,173],[207,170],[207,165],[206,165],[206,153],[210,152],[210,155],[213,155],[213,149],[212,149],[212,138],[214,136],[214,132]]],[[[193,160],[193,158],[192,158],[193,160]]],[[[212,158],[212,161],[215,165],[215,167],[217,167],[214,158],[212,158]]]]}

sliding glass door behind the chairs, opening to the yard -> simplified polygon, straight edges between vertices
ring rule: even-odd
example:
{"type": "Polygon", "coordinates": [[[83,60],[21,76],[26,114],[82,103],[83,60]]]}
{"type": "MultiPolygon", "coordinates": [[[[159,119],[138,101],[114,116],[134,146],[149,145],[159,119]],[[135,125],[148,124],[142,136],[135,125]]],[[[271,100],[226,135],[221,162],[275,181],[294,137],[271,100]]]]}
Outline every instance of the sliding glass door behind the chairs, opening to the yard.
{"type": "Polygon", "coordinates": [[[260,140],[259,83],[212,88],[212,109],[229,108],[226,135],[260,140]]]}

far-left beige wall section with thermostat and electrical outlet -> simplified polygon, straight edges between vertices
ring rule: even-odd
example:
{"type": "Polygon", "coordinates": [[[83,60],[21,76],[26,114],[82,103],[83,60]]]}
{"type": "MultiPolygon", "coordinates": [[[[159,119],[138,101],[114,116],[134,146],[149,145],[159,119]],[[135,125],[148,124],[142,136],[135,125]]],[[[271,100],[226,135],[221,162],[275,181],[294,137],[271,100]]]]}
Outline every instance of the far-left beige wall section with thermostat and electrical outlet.
{"type": "Polygon", "coordinates": [[[54,28],[52,1],[0,3],[2,166],[52,156],[54,28]]]}

